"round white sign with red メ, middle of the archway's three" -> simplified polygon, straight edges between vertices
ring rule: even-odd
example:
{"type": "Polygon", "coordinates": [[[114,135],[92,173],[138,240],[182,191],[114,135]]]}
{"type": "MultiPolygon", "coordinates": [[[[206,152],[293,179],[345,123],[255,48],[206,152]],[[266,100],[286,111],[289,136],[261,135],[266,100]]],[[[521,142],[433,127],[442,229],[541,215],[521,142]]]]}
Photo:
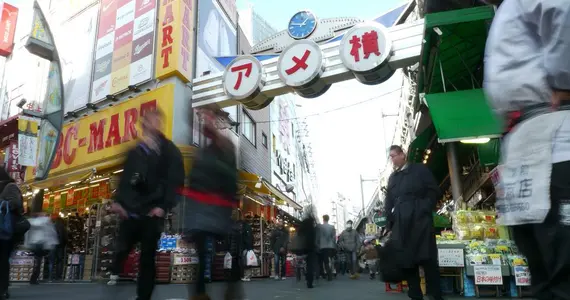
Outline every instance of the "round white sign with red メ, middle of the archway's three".
{"type": "Polygon", "coordinates": [[[330,85],[321,80],[325,71],[323,52],[310,40],[300,40],[283,50],[277,61],[277,74],[286,85],[305,98],[315,98],[330,85]]]}

